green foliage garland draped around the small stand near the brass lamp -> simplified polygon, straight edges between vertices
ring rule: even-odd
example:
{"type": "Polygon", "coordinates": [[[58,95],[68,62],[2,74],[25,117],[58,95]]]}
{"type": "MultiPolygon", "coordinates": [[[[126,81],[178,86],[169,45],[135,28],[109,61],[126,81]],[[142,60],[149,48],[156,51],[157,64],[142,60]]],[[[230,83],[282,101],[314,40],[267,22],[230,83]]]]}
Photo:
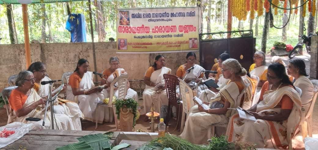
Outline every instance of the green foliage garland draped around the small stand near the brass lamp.
{"type": "Polygon", "coordinates": [[[133,123],[133,127],[135,127],[136,125],[136,117],[137,117],[137,108],[138,108],[138,102],[135,101],[132,98],[128,98],[128,99],[116,99],[115,102],[115,106],[116,106],[116,114],[117,114],[117,119],[119,119],[119,115],[120,115],[120,108],[123,108],[124,106],[127,107],[128,109],[131,109],[133,114],[134,114],[134,123],[133,123]]]}

